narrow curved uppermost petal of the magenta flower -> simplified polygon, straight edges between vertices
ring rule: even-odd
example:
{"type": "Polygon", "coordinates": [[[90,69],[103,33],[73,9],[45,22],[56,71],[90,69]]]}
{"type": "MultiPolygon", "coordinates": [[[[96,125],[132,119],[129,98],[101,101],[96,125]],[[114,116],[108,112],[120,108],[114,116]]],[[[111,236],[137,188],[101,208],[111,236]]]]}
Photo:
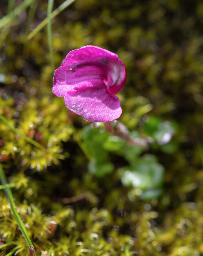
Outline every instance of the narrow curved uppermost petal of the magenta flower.
{"type": "Polygon", "coordinates": [[[118,58],[117,54],[102,49],[101,47],[86,45],[80,49],[70,51],[63,60],[62,67],[69,70],[73,65],[99,55],[118,58]]]}

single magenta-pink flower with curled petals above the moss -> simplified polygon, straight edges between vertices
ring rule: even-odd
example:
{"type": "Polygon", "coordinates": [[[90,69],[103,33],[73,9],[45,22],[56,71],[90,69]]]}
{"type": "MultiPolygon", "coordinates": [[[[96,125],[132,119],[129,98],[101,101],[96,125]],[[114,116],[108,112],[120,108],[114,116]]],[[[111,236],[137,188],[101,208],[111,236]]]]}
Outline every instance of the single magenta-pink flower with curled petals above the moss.
{"type": "Polygon", "coordinates": [[[55,71],[52,92],[87,121],[113,121],[122,113],[115,94],[125,81],[126,67],[115,53],[87,45],[67,54],[55,71]]]}

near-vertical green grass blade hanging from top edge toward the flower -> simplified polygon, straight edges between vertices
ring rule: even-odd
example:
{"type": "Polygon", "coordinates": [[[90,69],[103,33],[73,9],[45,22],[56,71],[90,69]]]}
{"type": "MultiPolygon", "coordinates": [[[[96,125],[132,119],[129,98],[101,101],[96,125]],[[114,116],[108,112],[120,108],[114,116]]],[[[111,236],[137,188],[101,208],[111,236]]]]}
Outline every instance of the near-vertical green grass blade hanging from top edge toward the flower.
{"type": "Polygon", "coordinates": [[[47,37],[48,37],[48,45],[49,45],[49,53],[50,53],[50,59],[51,59],[51,66],[52,71],[54,73],[55,71],[55,63],[54,63],[54,52],[52,47],[52,36],[51,36],[51,12],[53,9],[54,0],[48,0],[48,6],[47,6],[47,37]]]}

